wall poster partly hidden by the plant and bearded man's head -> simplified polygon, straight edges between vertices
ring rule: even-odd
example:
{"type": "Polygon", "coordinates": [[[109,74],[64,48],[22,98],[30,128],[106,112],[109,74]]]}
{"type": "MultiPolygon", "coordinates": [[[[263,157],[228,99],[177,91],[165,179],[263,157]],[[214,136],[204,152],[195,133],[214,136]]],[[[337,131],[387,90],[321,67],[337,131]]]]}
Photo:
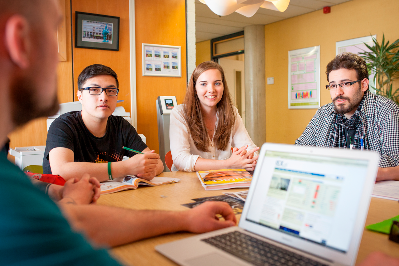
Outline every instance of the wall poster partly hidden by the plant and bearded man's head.
{"type": "MultiPolygon", "coordinates": [[[[338,54],[342,54],[344,52],[351,52],[354,54],[359,54],[362,52],[371,52],[370,49],[367,48],[365,44],[373,47],[374,46],[373,38],[377,39],[377,35],[365,36],[365,37],[336,42],[335,55],[337,56],[338,54]]],[[[373,89],[373,87],[375,87],[374,77],[375,77],[375,72],[371,71],[371,74],[369,75],[369,89],[372,93],[376,92],[375,89],[373,89]]]]}

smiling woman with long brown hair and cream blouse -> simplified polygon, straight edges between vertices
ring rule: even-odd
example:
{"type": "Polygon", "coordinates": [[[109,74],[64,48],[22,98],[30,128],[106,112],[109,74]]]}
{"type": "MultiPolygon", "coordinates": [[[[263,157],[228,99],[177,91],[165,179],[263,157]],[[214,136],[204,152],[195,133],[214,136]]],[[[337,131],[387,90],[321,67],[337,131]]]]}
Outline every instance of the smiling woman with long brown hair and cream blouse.
{"type": "Polygon", "coordinates": [[[172,171],[255,168],[259,147],[233,106],[219,64],[203,62],[192,73],[184,104],[170,115],[170,150],[172,171]]]}

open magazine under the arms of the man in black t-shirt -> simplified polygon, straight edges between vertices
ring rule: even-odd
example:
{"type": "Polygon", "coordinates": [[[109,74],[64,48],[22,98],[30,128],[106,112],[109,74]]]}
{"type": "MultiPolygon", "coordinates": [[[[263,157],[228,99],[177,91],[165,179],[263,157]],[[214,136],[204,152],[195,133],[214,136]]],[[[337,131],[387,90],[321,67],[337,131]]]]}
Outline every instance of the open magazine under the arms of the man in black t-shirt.
{"type": "Polygon", "coordinates": [[[127,189],[137,189],[138,185],[160,186],[179,182],[181,179],[172,177],[154,177],[150,181],[132,176],[119,177],[100,183],[101,195],[110,194],[127,189]]]}

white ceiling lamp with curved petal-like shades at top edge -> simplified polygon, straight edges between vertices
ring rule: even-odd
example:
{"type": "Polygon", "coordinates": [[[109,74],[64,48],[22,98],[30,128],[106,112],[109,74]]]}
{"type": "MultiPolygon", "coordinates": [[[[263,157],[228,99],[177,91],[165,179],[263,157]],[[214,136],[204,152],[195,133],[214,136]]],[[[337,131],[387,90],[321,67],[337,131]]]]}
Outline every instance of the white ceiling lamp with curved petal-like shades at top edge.
{"type": "Polygon", "coordinates": [[[237,12],[249,18],[260,7],[284,12],[290,0],[199,0],[199,2],[206,4],[213,13],[219,16],[227,16],[237,12]]]}

